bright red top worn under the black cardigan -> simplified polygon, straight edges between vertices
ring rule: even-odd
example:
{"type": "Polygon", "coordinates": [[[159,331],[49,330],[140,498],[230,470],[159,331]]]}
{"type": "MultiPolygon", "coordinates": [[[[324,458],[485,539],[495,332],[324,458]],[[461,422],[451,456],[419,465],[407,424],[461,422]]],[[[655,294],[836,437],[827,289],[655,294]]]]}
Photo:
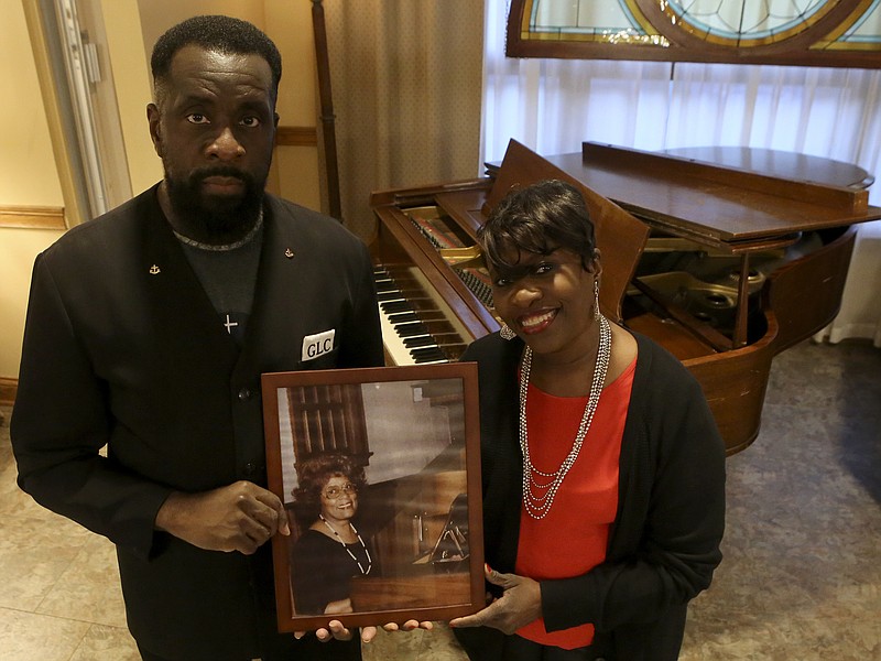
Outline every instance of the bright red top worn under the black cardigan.
{"type": "MultiPolygon", "coordinates": [[[[594,422],[544,519],[533,519],[521,506],[515,572],[536,581],[579,576],[606,560],[609,529],[618,509],[618,462],[624,433],[635,359],[600,394],[594,422]]],[[[559,468],[572,451],[587,397],[554,397],[529,387],[526,422],[530,457],[544,473],[559,468]]],[[[551,478],[535,476],[546,484],[551,478]]],[[[547,489],[533,494],[543,496],[547,489]]],[[[567,650],[594,640],[594,625],[548,633],[537,619],[518,635],[567,650]]]]}

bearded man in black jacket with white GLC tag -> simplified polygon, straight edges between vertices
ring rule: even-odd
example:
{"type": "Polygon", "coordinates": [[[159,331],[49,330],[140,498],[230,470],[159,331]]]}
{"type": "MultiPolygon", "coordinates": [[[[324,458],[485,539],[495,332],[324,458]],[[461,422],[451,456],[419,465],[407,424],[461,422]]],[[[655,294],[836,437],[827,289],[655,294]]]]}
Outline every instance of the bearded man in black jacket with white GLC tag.
{"type": "Polygon", "coordinates": [[[357,638],[276,632],[265,542],[289,528],[265,488],[260,375],[382,365],[368,252],[263,192],[281,57],[262,32],[191,19],[151,67],[164,180],[34,266],[19,485],[117,545],[144,659],[359,659],[357,638]]]}

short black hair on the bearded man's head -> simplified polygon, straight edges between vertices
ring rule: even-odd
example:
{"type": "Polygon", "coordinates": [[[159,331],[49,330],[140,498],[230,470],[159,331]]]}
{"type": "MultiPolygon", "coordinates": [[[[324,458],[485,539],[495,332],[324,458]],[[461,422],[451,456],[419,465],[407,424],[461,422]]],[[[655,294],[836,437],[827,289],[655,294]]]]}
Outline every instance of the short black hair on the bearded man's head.
{"type": "Polygon", "coordinates": [[[163,83],[167,80],[174,55],[184,46],[192,44],[225,54],[260,55],[272,71],[272,87],[278,96],[279,80],[282,77],[282,56],[272,40],[248,21],[231,17],[206,15],[187,19],[168,29],[156,40],[150,58],[156,97],[162,94],[163,83]]]}

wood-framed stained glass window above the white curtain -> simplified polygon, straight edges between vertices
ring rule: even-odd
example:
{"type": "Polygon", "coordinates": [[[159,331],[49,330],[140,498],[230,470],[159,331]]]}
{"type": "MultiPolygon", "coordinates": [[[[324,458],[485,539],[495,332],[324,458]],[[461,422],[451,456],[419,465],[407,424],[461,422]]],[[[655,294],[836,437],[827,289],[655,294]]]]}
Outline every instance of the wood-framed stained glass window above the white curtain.
{"type": "Polygon", "coordinates": [[[881,67],[881,0],[512,0],[508,55],[881,67]]]}

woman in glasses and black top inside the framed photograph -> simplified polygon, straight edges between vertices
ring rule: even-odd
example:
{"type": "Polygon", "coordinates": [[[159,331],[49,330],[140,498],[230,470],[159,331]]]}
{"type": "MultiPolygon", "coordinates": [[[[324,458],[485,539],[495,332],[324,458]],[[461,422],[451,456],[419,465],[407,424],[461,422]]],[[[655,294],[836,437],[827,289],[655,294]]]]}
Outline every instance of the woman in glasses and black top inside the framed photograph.
{"type": "Polygon", "coordinates": [[[373,570],[370,545],[352,521],[367,484],[363,467],[323,454],[303,462],[298,475],[294,497],[313,509],[314,521],[294,546],[294,607],[297,615],[351,613],[352,576],[373,570]]]}

